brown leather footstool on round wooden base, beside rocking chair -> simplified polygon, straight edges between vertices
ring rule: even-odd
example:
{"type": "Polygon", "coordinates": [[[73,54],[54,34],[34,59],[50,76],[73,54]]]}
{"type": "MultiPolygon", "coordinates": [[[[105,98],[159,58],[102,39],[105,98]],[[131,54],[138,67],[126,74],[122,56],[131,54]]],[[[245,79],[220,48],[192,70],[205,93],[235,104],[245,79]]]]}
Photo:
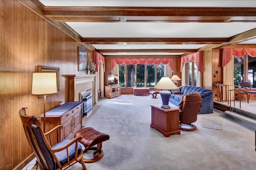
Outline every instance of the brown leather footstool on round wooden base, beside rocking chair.
{"type": "Polygon", "coordinates": [[[82,139],[79,142],[83,144],[85,147],[84,153],[86,153],[88,150],[96,150],[95,152],[93,152],[94,158],[83,157],[82,159],[84,160],[84,162],[92,163],[102,158],[102,156],[104,155],[104,150],[102,149],[102,142],[109,140],[108,134],[104,134],[102,132],[95,130],[94,128],[87,127],[78,130],[74,134],[74,137],[76,136],[82,136],[82,139]],[[96,144],[97,147],[92,147],[96,144]]]}

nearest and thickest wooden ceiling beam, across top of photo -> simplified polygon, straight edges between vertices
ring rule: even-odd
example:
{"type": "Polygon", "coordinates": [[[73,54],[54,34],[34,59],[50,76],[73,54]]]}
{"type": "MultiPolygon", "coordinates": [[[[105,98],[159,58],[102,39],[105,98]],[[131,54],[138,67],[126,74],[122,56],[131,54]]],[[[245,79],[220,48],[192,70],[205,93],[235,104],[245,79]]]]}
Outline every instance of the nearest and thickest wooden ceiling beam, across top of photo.
{"type": "Polygon", "coordinates": [[[44,15],[58,22],[120,22],[122,16],[126,22],[232,22],[232,17],[255,22],[256,8],[46,6],[44,15]]]}

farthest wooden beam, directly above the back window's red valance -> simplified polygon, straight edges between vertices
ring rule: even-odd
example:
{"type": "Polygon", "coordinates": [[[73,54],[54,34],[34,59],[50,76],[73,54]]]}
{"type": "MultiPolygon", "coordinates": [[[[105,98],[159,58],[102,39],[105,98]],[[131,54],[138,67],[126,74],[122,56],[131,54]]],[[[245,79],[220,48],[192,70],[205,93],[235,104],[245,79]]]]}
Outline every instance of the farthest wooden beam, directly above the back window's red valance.
{"type": "Polygon", "coordinates": [[[179,58],[180,55],[104,55],[106,58],[179,58]]]}

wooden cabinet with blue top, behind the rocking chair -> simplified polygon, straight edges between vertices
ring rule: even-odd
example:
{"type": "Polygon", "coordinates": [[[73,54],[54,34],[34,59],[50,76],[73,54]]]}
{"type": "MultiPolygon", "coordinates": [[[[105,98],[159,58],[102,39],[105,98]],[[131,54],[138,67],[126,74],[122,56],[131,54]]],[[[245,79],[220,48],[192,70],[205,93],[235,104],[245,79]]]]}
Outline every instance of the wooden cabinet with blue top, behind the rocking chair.
{"type": "MultiPolygon", "coordinates": [[[[45,131],[48,132],[62,125],[59,134],[61,140],[74,138],[74,134],[82,128],[82,103],[82,101],[70,101],[46,112],[45,131]]],[[[38,117],[43,118],[44,114],[38,117]]],[[[53,135],[52,139],[56,139],[57,133],[53,135]]],[[[57,141],[53,141],[53,144],[56,143],[57,141]]]]}

